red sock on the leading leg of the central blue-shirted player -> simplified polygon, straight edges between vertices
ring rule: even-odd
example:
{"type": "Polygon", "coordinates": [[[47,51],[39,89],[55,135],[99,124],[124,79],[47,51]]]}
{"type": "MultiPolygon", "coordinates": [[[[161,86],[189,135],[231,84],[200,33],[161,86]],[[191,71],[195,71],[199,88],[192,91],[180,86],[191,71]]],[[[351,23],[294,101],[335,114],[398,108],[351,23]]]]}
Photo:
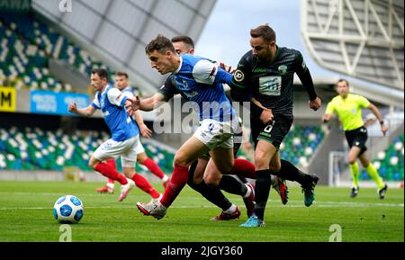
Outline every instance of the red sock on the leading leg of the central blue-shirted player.
{"type": "Polygon", "coordinates": [[[176,166],[173,169],[173,175],[170,183],[167,185],[163,198],[160,200],[166,208],[175,201],[177,195],[182,191],[184,185],[187,183],[188,167],[176,166]]]}

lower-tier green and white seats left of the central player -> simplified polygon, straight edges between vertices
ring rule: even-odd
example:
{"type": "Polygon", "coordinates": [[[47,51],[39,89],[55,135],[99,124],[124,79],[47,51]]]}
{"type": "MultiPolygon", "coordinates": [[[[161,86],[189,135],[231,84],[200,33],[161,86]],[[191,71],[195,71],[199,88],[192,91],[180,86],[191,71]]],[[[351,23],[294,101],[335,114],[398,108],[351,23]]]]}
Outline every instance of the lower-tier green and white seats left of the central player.
{"type": "MultiPolygon", "coordinates": [[[[90,152],[109,138],[105,131],[76,130],[68,135],[61,129],[40,130],[40,128],[2,127],[0,129],[0,169],[7,170],[54,170],[62,171],[66,166],[76,166],[83,171],[90,152]]],[[[157,162],[165,173],[173,171],[174,154],[157,142],[144,144],[148,157],[157,162]]],[[[121,170],[121,164],[117,166],[121,170]]],[[[137,166],[139,173],[147,172],[137,166]]]]}

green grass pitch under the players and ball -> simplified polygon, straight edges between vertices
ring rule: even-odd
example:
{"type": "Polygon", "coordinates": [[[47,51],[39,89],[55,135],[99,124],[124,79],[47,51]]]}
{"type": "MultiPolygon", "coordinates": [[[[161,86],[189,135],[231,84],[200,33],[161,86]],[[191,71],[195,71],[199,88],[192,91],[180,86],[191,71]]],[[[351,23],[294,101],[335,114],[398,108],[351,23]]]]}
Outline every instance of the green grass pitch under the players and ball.
{"type": "MultiPolygon", "coordinates": [[[[61,236],[52,208],[58,197],[73,194],[85,204],[85,216],[71,225],[72,241],[135,242],[328,242],[341,228],[343,242],[404,241],[403,189],[390,189],[379,200],[376,188],[362,188],[356,199],[348,188],[316,187],[316,201],[307,208],[300,187],[291,186],[290,201],[280,202],[271,191],[266,208],[266,227],[246,229],[240,198],[226,194],[241,207],[239,220],[210,221],[220,209],[188,186],[162,220],[143,216],[135,202],[149,196],[136,187],[123,202],[114,194],[98,194],[101,183],[0,182],[0,241],[55,241],[61,236]],[[338,226],[332,226],[338,225],[338,226]]],[[[160,184],[155,184],[161,192],[160,184]]]]}

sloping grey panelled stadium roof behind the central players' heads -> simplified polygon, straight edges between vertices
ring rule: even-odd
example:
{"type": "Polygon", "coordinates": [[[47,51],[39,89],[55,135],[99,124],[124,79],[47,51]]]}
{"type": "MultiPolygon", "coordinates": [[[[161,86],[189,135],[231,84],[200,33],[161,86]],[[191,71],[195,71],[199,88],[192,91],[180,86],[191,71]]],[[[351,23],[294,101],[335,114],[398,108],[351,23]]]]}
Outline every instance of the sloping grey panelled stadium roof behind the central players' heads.
{"type": "Polygon", "coordinates": [[[166,78],[150,67],[145,46],[158,33],[197,41],[216,0],[32,0],[36,13],[107,65],[126,71],[131,85],[153,94],[166,78]]]}

